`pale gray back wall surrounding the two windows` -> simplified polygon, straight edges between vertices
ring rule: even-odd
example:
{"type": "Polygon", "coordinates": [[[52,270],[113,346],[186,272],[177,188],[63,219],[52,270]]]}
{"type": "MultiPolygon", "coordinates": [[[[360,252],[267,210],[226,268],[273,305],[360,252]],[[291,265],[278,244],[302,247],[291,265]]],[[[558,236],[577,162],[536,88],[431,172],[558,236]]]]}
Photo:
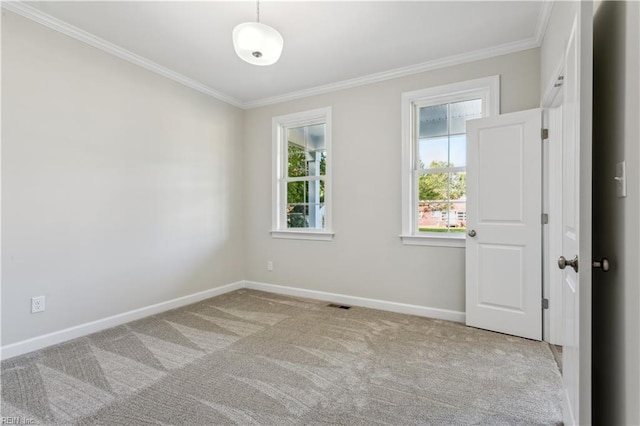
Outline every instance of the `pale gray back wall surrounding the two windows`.
{"type": "Polygon", "coordinates": [[[535,108],[539,61],[533,49],[247,111],[245,278],[464,311],[464,249],[405,246],[399,238],[401,94],[500,74],[502,112],[535,108]],[[333,109],[335,239],[273,239],[271,118],[325,106],[333,109]]]}

